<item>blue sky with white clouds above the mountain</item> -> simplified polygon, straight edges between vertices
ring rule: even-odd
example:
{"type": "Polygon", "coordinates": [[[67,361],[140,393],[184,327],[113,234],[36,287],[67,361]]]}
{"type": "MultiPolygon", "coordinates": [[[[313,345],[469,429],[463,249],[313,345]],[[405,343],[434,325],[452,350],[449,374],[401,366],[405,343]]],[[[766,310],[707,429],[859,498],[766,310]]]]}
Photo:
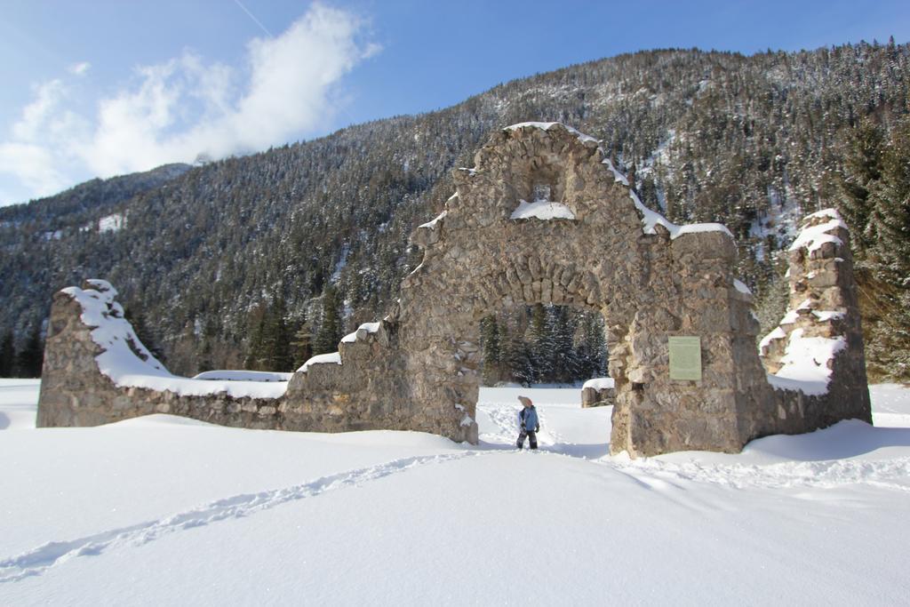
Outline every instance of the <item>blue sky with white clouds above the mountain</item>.
{"type": "Polygon", "coordinates": [[[636,50],[910,41],[910,3],[8,0],[0,205],[636,50]]]}

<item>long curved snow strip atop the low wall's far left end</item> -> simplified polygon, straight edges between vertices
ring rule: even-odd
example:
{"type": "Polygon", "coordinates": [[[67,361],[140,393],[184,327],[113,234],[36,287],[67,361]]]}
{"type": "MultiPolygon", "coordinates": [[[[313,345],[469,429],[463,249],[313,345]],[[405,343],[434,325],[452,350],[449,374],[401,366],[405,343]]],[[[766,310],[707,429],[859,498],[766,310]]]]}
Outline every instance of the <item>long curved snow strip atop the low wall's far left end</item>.
{"type": "Polygon", "coordinates": [[[136,337],[114,299],[116,288],[106,280],[86,280],[95,288],[63,289],[82,308],[80,319],[92,329],[91,336],[104,351],[95,357],[98,370],[120,388],[170,391],[180,396],[210,396],[227,393],[234,398],[277,399],[288,389],[287,381],[227,381],[189,379],[173,375],[136,337]]]}

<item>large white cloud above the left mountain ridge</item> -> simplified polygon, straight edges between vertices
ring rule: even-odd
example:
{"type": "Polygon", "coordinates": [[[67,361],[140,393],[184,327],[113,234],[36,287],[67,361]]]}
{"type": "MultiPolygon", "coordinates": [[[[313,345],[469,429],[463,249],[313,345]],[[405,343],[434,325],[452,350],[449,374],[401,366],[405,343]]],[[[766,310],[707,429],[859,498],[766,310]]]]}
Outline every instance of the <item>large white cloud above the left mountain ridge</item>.
{"type": "MultiPolygon", "coordinates": [[[[34,101],[11,127],[11,137],[0,141],[0,176],[11,174],[29,196],[41,196],[86,177],[192,162],[199,154],[224,157],[325,133],[339,80],[379,51],[360,40],[363,26],[356,15],[313,4],[281,35],[251,40],[244,66],[208,62],[187,51],[137,68],[128,85],[96,98],[89,114],[67,107],[73,94],[65,82],[46,82],[35,87],[34,101]]],[[[70,73],[82,76],[88,68],[76,64],[70,73]]]]}

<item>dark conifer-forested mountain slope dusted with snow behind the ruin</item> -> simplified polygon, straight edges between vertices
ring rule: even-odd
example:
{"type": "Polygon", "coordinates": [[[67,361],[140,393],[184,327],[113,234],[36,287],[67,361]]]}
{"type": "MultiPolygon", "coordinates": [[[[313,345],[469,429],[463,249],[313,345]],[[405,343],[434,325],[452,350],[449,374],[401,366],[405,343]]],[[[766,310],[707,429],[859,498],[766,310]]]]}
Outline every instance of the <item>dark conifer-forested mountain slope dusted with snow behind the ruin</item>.
{"type": "MultiPolygon", "coordinates": [[[[882,154],[894,147],[908,85],[910,48],[893,43],[755,56],[641,52],[194,167],[127,200],[98,201],[96,211],[80,207],[78,221],[49,200],[33,202],[0,216],[0,330],[15,331],[22,346],[56,288],[101,277],[177,372],[244,362],[289,369],[314,344],[384,314],[418,261],[410,231],[453,191],[450,169],[470,167],[491,130],[528,120],[601,138],[645,204],[672,220],[731,228],[743,279],[772,319],[778,252],[796,220],[844,200],[872,204],[881,175],[860,175],[857,135],[865,126],[882,154]],[[854,196],[860,181],[865,197],[854,196]],[[116,229],[73,229],[115,212],[125,218],[116,229]]],[[[885,262],[873,248],[870,276],[898,301],[900,277],[878,276],[885,262]]]]}

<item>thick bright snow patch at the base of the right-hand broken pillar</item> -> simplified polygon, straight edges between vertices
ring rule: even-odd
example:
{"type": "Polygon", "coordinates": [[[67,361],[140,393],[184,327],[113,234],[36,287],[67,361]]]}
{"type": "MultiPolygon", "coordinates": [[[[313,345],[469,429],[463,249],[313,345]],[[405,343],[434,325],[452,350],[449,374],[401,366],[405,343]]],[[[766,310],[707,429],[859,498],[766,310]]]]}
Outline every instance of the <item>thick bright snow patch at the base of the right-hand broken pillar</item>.
{"type": "Polygon", "coordinates": [[[794,329],[790,333],[781,359],[783,367],[777,373],[769,373],[768,381],[775,389],[799,389],[806,396],[826,394],[832,361],[846,348],[846,339],[805,338],[803,332],[803,329],[794,329]]]}

